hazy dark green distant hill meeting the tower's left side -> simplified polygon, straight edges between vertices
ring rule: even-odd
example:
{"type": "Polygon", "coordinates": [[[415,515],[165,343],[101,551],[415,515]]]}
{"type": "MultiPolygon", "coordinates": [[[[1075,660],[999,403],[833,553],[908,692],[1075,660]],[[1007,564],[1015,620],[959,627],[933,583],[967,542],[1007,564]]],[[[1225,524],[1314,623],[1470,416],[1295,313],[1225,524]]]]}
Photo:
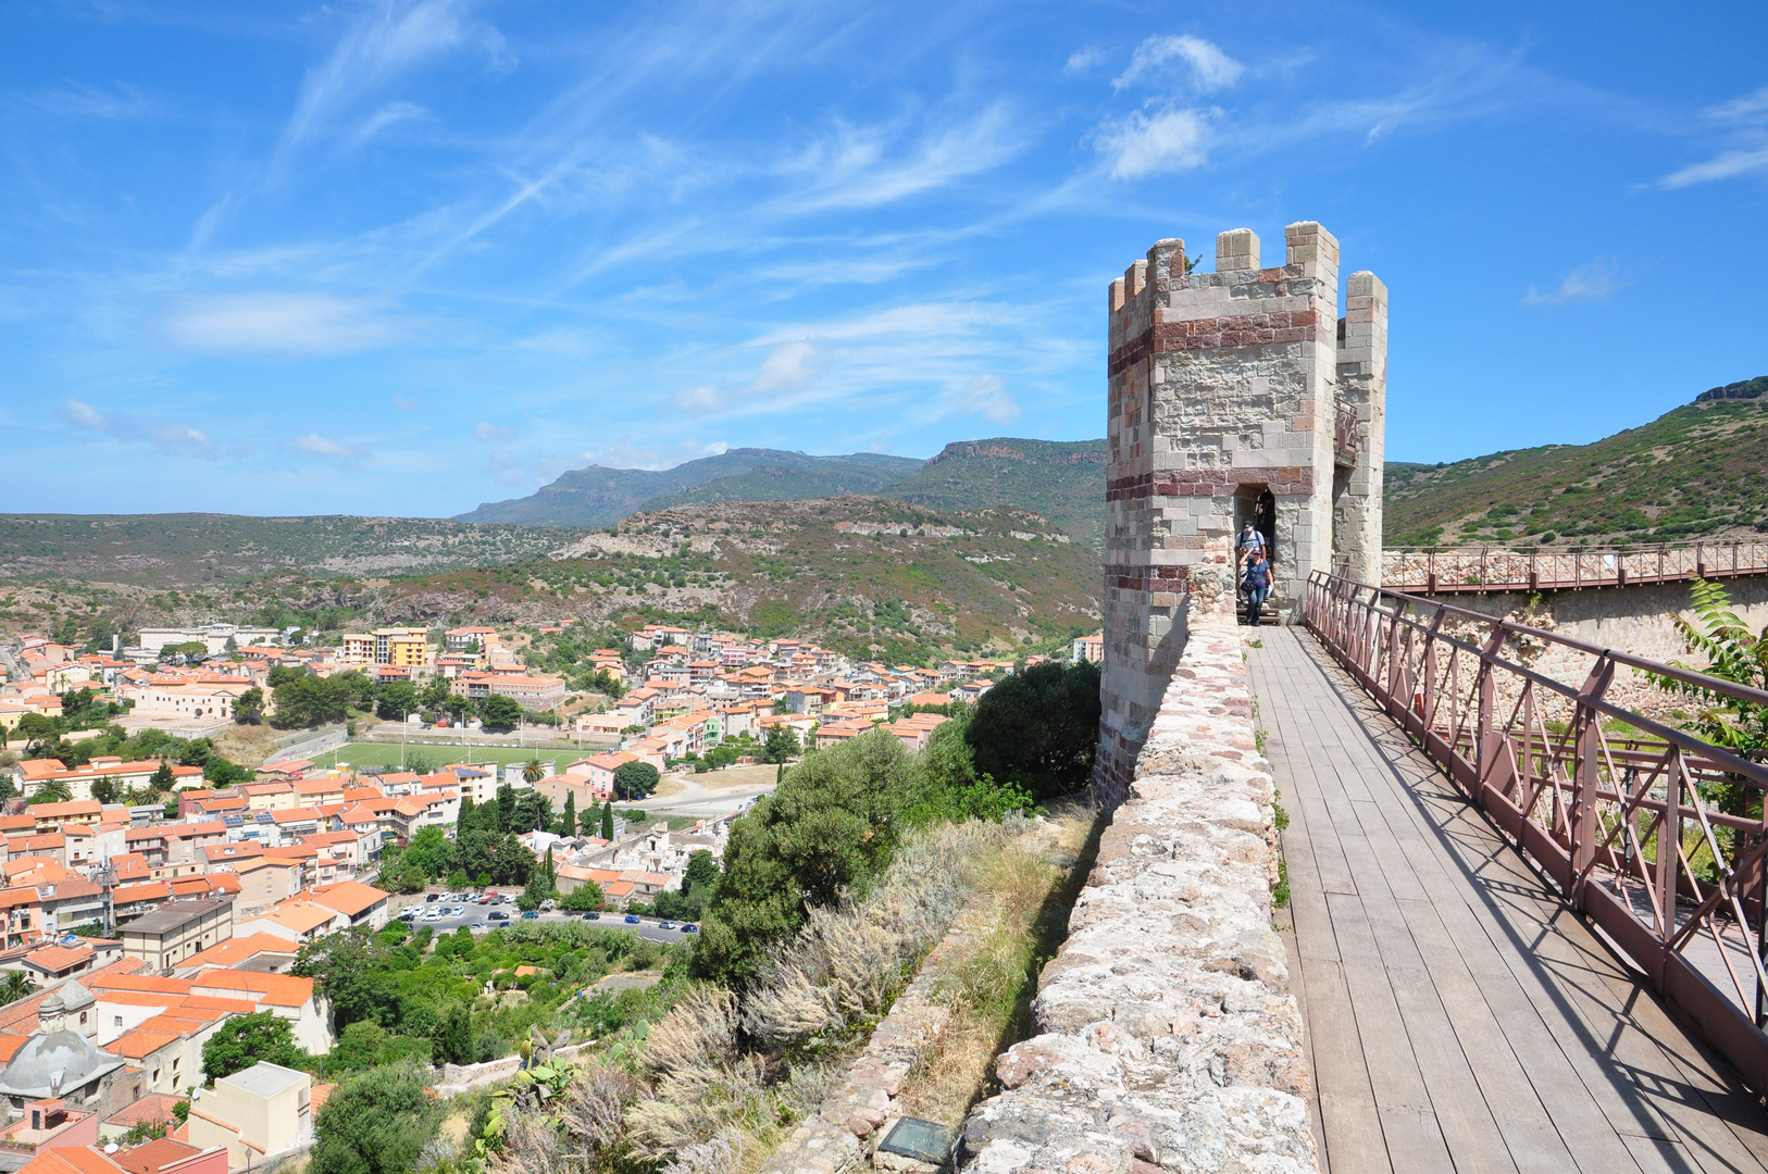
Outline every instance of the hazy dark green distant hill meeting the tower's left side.
{"type": "Polygon", "coordinates": [[[1043,515],[1075,541],[1105,548],[1103,440],[964,440],[948,444],[884,497],[939,509],[1011,506],[1043,515]]]}

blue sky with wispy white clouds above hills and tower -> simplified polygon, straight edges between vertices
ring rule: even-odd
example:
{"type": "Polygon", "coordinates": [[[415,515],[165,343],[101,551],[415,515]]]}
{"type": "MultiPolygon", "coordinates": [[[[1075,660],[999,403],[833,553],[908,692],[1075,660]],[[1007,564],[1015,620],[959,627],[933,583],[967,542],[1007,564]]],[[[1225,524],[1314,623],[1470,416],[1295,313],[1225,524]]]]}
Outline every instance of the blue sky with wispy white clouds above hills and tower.
{"type": "Polygon", "coordinates": [[[453,515],[1105,431],[1105,286],[1324,223],[1390,460],[1768,373],[1768,7],[133,4],[0,37],[0,509],[453,515]]]}

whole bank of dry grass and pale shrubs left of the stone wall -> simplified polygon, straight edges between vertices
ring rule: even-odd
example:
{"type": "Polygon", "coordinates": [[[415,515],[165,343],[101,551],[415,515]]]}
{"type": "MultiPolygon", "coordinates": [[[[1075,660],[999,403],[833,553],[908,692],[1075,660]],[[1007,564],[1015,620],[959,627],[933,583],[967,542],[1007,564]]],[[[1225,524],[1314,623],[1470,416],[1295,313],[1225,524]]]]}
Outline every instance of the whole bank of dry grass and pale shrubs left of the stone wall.
{"type": "Polygon", "coordinates": [[[865,898],[815,911],[741,1002],[695,987],[649,1027],[631,1068],[592,1063],[545,1110],[511,1114],[486,1174],[758,1169],[817,1110],[919,960],[967,911],[972,944],[946,957],[937,980],[953,1034],[909,1093],[921,1116],[962,1117],[1001,1040],[1025,1018],[1041,957],[1066,930],[1068,880],[1089,829],[1091,819],[1073,813],[911,836],[865,898]]]}

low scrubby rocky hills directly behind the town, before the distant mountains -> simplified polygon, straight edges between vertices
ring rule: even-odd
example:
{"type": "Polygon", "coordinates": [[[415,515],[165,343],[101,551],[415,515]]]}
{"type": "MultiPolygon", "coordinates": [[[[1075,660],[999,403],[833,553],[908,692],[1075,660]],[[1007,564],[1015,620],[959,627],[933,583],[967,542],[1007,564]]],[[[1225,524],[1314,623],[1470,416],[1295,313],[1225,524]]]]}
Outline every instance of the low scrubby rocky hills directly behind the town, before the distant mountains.
{"type": "MultiPolygon", "coordinates": [[[[81,532],[80,545],[64,532],[55,548],[60,573],[14,576],[0,587],[0,633],[55,633],[108,647],[111,633],[127,640],[147,626],[223,617],[318,633],[394,622],[537,628],[575,619],[605,629],[654,621],[808,637],[854,654],[925,663],[951,652],[1050,649],[1098,628],[1100,615],[1098,555],[1048,536],[1043,518],[1018,509],[935,511],[859,495],[723,502],[635,515],[617,530],[541,529],[550,541],[539,548],[525,545],[525,529],[433,523],[481,529],[506,545],[499,557],[484,552],[477,566],[370,573],[329,564],[385,560],[398,550],[370,545],[338,555],[315,541],[308,552],[315,564],[265,566],[262,552],[246,560],[225,546],[228,534],[255,530],[219,523],[271,520],[210,518],[191,562],[161,557],[168,534],[189,530],[156,532],[156,522],[115,520],[115,530],[138,532],[145,550],[159,552],[152,559],[108,545],[120,539],[92,543],[81,532]],[[180,568],[196,573],[168,583],[180,568]]],[[[375,525],[403,532],[398,522],[375,525]]],[[[88,530],[110,534],[104,525],[88,530]]],[[[375,541],[373,525],[350,532],[359,543],[375,541]]]]}

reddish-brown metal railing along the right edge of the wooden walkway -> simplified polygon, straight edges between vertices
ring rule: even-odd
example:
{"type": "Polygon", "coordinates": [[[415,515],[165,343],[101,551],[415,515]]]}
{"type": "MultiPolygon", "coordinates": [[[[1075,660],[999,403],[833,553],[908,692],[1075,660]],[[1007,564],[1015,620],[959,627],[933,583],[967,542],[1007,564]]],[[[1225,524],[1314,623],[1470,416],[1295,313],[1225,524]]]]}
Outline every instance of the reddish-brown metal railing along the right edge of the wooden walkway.
{"type": "Polygon", "coordinates": [[[1618,672],[1768,693],[1315,571],[1307,624],[1536,872],[1768,1091],[1768,766],[1605,700],[1618,672]],[[1588,668],[1566,684],[1543,649],[1588,668]]]}

